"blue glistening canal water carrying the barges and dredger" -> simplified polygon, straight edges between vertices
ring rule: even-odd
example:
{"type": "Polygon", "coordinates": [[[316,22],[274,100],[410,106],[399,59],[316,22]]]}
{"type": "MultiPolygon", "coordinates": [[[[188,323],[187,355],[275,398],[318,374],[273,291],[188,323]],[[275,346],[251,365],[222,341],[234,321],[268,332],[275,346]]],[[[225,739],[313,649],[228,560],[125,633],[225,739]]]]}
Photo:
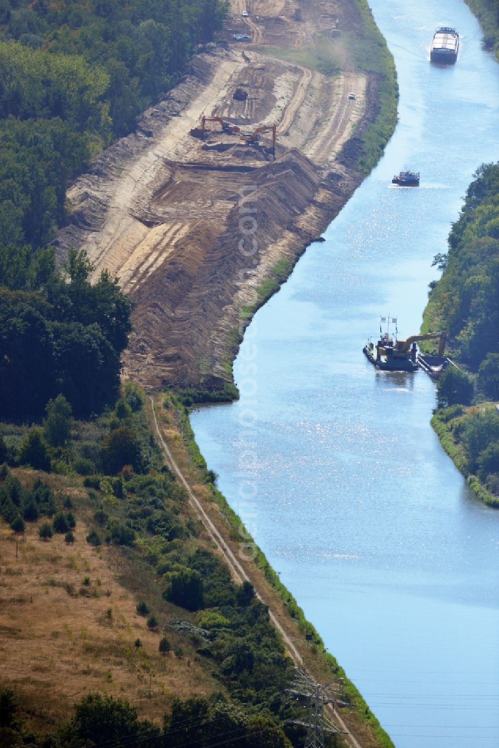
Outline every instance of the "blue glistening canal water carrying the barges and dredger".
{"type": "Polygon", "coordinates": [[[432,257],[498,159],[498,65],[459,0],[371,0],[399,76],[382,162],[255,316],[242,397],[192,426],[209,468],[397,748],[499,746],[499,511],[429,426],[423,372],[374,370],[379,318],[417,333],[432,257]],[[453,67],[429,63],[438,25],[453,67]],[[391,186],[401,168],[419,188],[391,186]]]}

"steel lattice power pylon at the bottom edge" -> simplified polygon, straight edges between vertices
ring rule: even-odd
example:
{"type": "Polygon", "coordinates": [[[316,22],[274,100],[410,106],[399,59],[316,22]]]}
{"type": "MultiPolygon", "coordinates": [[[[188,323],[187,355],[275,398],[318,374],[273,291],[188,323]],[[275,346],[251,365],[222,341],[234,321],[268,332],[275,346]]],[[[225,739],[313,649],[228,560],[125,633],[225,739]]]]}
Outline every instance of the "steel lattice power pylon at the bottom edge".
{"type": "Polygon", "coordinates": [[[341,681],[343,678],[320,684],[304,670],[298,667],[295,670],[293,687],[288,689],[288,692],[297,698],[301,696],[308,701],[308,722],[293,720],[296,725],[307,727],[305,748],[324,748],[324,734],[339,735],[341,733],[348,735],[343,730],[339,730],[324,714],[326,704],[348,706],[346,702],[338,698],[342,696],[341,681]]]}

